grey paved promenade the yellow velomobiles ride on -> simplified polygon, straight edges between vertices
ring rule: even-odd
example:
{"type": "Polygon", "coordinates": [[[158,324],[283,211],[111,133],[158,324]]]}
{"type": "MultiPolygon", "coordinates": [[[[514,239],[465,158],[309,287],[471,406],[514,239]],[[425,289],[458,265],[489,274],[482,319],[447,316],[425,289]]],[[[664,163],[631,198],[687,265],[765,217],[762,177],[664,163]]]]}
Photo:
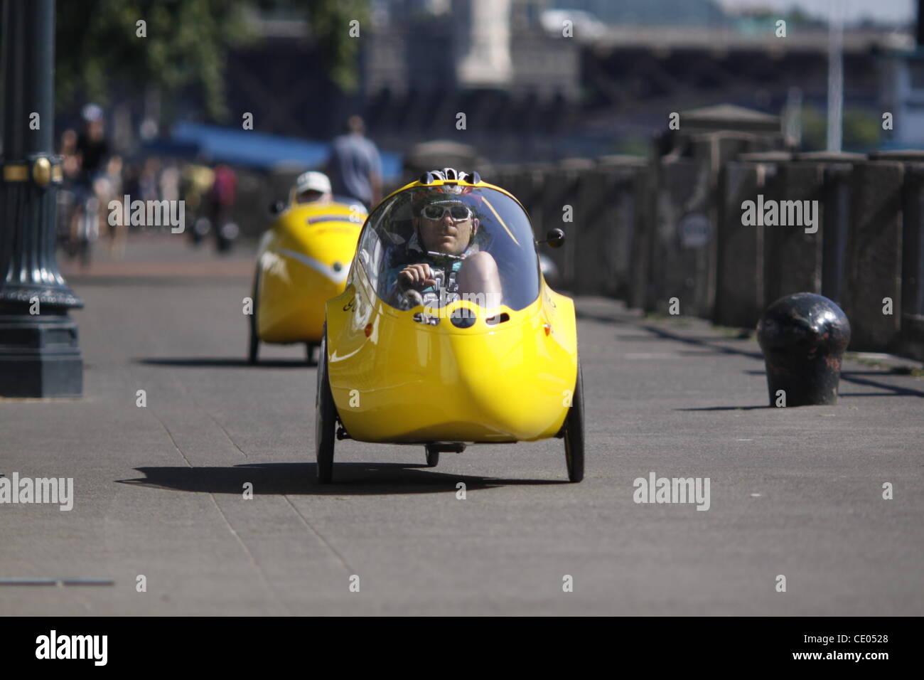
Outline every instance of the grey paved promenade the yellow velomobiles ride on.
{"type": "Polygon", "coordinates": [[[924,613],[924,380],[847,364],[839,405],[769,408],[754,340],[581,299],[581,484],[558,439],[435,469],[345,441],[319,487],[315,371],[245,363],[235,266],[71,277],[85,396],[0,400],[0,473],[73,477],[74,508],[0,505],[0,578],[113,585],[0,586],[0,614],[924,613]],[[651,471],[710,509],[637,504],[651,471]]]}

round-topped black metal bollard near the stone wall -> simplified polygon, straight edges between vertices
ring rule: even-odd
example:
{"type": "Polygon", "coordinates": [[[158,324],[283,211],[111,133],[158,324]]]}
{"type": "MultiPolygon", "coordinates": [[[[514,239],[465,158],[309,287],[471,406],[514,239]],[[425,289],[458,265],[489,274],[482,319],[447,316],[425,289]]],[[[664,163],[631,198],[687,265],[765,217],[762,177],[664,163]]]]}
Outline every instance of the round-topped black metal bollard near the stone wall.
{"type": "Polygon", "coordinates": [[[757,338],[771,406],[837,403],[841,357],[850,342],[850,322],[840,307],[811,292],[787,295],[760,317],[757,338]]]}

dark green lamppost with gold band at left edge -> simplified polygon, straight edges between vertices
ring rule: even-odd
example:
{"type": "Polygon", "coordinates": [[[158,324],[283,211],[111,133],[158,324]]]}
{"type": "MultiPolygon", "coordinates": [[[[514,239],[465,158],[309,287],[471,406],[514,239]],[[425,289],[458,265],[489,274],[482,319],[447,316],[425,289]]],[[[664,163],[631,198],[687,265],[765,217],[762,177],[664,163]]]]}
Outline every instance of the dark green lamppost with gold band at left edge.
{"type": "Polygon", "coordinates": [[[83,391],[77,325],[83,303],[55,261],[61,159],[53,155],[55,0],[3,6],[0,178],[0,396],[83,391]]]}

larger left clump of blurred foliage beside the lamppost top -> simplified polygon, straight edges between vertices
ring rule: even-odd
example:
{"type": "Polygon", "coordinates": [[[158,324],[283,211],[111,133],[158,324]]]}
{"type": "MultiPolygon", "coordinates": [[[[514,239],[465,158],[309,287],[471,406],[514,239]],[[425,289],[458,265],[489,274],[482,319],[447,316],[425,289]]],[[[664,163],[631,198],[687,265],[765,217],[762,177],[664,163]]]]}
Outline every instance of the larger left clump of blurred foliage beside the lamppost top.
{"type": "Polygon", "coordinates": [[[56,3],[55,91],[59,107],[80,93],[105,104],[114,80],[159,90],[201,89],[208,114],[225,116],[225,56],[255,37],[236,0],[81,0],[56,3]],[[138,22],[144,21],[145,37],[138,22]]]}

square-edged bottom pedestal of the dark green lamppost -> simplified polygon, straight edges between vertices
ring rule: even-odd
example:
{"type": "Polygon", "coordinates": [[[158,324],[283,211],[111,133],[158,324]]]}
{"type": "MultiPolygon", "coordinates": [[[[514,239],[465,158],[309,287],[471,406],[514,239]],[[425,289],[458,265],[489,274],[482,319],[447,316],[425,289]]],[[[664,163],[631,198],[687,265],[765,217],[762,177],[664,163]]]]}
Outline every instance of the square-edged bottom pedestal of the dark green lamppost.
{"type": "Polygon", "coordinates": [[[65,314],[0,315],[0,397],[79,397],[83,359],[65,314]]]}

